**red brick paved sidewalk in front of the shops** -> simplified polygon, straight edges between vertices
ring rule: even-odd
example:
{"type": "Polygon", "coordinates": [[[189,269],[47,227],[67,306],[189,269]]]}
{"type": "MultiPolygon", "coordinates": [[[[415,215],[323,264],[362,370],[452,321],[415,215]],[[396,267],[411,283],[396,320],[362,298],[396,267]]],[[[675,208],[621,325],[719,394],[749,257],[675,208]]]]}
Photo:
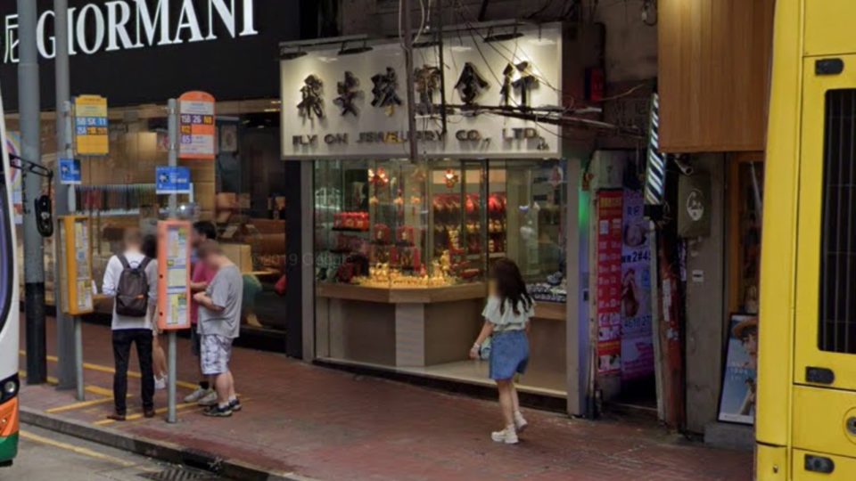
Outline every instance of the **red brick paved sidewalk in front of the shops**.
{"type": "MultiPolygon", "coordinates": [[[[51,354],[53,338],[51,330],[51,354]]],[[[329,481],[751,479],[751,453],[688,443],[653,423],[571,420],[527,410],[531,428],[522,443],[499,445],[489,437],[498,427],[495,403],[239,348],[233,366],[243,412],[211,419],[195,406],[182,406],[177,425],[161,418],[109,423],[110,330],[85,324],[84,338],[86,404],[76,404],[69,392],[38,386],[23,388],[24,406],[265,469],[329,481]]],[[[196,374],[188,341],[179,339],[178,348],[181,398],[196,374]]],[[[49,371],[55,375],[55,361],[49,371]]],[[[139,383],[130,379],[132,417],[140,412],[138,392],[139,383]]],[[[156,404],[165,407],[164,392],[156,404]]]]}

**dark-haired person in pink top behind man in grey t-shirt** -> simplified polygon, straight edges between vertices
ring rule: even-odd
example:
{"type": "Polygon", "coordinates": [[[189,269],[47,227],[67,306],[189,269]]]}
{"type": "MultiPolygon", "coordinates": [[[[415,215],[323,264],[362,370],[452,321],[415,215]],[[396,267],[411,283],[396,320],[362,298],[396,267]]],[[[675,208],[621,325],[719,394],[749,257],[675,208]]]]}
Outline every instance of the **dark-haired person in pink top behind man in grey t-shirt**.
{"type": "MultiPolygon", "coordinates": [[[[201,262],[199,259],[199,247],[202,245],[202,242],[206,240],[217,240],[217,227],[209,221],[199,221],[194,223],[193,231],[191,232],[191,244],[193,244],[195,258],[193,259],[193,274],[190,280],[190,290],[193,295],[198,292],[204,292],[205,289],[208,289],[208,285],[214,280],[214,275],[217,274],[216,270],[211,269],[207,264],[201,262]]],[[[191,299],[190,301],[190,322],[191,349],[193,351],[193,355],[199,357],[199,303],[194,299],[191,299]]],[[[185,397],[185,403],[199,403],[203,406],[217,404],[217,393],[215,393],[214,389],[211,388],[213,381],[208,376],[202,374],[201,366],[199,372],[200,379],[202,379],[199,381],[199,387],[197,387],[193,393],[185,397]]]]}

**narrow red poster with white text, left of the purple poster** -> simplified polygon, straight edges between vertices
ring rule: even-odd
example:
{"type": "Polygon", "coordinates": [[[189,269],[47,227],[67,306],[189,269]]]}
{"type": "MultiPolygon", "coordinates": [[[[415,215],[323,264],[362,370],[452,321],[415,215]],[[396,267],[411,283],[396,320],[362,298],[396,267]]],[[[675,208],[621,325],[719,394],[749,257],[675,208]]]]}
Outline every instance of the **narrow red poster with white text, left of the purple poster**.
{"type": "Polygon", "coordinates": [[[597,192],[597,371],[621,372],[621,191],[597,192]]]}

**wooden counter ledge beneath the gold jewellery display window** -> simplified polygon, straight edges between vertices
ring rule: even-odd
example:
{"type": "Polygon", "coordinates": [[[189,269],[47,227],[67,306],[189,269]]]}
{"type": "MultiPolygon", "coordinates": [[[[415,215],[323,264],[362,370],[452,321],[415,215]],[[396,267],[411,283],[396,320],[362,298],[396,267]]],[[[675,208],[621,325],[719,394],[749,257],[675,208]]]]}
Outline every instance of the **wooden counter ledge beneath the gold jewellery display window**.
{"type": "Polygon", "coordinates": [[[355,284],[319,283],[316,288],[316,295],[319,298],[382,304],[432,304],[485,298],[487,286],[483,282],[471,282],[435,288],[375,288],[355,284]]]}

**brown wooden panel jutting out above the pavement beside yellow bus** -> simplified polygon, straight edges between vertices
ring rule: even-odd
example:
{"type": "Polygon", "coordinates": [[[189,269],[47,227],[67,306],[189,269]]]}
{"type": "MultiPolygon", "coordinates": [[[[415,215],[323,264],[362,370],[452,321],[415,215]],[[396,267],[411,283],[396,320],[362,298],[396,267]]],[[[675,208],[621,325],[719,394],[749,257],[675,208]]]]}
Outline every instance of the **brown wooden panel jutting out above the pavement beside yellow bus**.
{"type": "Polygon", "coordinates": [[[660,145],[762,151],[774,0],[660,0],[660,145]]]}

